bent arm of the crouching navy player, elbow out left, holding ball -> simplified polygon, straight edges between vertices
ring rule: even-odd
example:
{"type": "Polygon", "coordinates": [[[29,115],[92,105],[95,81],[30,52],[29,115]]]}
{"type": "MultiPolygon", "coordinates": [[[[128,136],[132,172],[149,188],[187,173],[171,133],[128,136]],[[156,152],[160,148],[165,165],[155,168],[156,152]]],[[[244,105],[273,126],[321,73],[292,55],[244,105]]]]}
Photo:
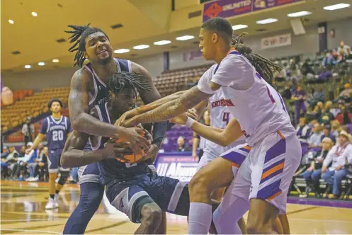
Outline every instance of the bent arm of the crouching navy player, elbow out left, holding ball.
{"type": "Polygon", "coordinates": [[[86,166],[103,159],[115,159],[118,152],[127,151],[124,148],[116,147],[114,144],[106,144],[103,149],[96,151],[84,151],[89,135],[74,130],[67,138],[64,150],[62,151],[60,164],[64,168],[86,166]]]}

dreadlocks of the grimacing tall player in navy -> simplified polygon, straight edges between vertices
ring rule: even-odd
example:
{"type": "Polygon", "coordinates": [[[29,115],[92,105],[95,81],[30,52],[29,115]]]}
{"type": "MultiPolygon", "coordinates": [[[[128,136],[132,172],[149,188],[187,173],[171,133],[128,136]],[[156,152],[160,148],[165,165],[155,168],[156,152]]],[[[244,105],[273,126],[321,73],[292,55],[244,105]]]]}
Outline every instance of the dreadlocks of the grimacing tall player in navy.
{"type": "Polygon", "coordinates": [[[78,65],[80,68],[83,66],[84,60],[86,59],[84,58],[83,52],[86,51],[86,37],[88,35],[91,35],[92,33],[96,33],[96,32],[101,32],[109,40],[108,35],[106,35],[106,33],[104,33],[103,30],[101,30],[100,28],[89,28],[89,25],[91,25],[91,23],[84,26],[69,25],[69,28],[72,28],[73,30],[64,31],[65,33],[72,34],[71,37],[69,37],[69,42],[74,43],[74,45],[72,45],[72,47],[69,47],[69,52],[76,51],[76,55],[74,56],[74,61],[75,61],[74,67],[76,65],[78,65]]]}

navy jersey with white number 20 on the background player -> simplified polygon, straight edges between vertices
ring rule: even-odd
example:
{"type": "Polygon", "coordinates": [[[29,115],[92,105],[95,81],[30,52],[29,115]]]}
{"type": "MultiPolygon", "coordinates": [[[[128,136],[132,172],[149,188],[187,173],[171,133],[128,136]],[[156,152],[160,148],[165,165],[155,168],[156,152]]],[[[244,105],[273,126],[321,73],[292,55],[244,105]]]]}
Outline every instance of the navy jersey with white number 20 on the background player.
{"type": "Polygon", "coordinates": [[[52,115],[42,120],[40,133],[47,136],[47,148],[49,150],[64,149],[67,134],[71,132],[71,122],[69,118],[61,115],[59,120],[55,120],[52,115]]]}

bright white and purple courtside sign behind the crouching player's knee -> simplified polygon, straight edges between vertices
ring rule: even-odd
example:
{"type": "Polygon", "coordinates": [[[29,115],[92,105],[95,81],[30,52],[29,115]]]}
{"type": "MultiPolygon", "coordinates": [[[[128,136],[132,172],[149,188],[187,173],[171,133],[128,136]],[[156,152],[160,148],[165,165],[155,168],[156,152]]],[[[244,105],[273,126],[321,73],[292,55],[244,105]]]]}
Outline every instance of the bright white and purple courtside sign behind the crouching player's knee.
{"type": "Polygon", "coordinates": [[[198,158],[193,159],[191,152],[160,153],[154,165],[159,176],[168,176],[189,182],[197,171],[198,158]]]}

